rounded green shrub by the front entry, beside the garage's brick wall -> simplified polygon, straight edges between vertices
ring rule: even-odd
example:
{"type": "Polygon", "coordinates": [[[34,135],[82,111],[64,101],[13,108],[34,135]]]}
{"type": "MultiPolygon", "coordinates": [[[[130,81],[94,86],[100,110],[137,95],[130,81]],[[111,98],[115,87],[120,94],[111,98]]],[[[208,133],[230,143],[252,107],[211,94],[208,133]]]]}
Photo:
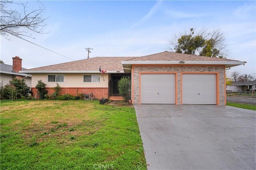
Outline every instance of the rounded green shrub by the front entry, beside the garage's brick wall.
{"type": "Polygon", "coordinates": [[[119,94],[124,98],[125,102],[130,100],[131,85],[130,77],[123,77],[118,81],[119,94]]]}

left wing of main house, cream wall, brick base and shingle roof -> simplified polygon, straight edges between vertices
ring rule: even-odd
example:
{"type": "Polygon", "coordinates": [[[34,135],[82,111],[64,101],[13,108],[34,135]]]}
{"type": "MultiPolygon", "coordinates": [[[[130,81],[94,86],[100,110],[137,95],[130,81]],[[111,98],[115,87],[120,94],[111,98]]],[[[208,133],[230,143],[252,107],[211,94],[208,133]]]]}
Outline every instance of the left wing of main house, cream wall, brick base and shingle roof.
{"type": "Polygon", "coordinates": [[[24,72],[32,74],[32,92],[36,94],[36,84],[42,80],[46,84],[48,94],[54,93],[54,87],[58,83],[61,94],[76,96],[77,90],[81,94],[93,92],[97,99],[108,98],[118,95],[117,82],[124,73],[121,61],[133,59],[134,57],[94,57],[68,63],[55,64],[32,68],[24,72]],[[99,71],[107,70],[103,75],[99,71]],[[34,76],[34,77],[33,77],[34,76]]]}

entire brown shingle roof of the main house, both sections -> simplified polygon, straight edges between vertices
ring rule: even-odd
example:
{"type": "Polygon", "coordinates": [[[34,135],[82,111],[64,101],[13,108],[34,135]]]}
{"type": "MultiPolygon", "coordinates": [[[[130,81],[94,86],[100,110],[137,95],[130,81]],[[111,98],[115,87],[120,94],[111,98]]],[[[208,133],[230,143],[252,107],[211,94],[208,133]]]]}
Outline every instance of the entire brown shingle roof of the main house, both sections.
{"type": "Polygon", "coordinates": [[[103,70],[122,71],[121,61],[236,61],[214,57],[188,55],[164,51],[142,57],[93,57],[68,63],[42,66],[28,69],[28,71],[97,71],[99,66],[103,70]]]}

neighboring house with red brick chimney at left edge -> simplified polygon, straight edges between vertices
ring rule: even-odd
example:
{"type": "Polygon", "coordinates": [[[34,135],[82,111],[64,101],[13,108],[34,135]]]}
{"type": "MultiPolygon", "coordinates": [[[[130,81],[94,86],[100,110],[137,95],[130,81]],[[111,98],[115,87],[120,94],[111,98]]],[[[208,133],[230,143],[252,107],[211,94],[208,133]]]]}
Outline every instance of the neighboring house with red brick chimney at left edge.
{"type": "Polygon", "coordinates": [[[20,57],[12,57],[12,65],[0,63],[0,81],[3,85],[10,84],[13,78],[23,78],[26,84],[31,87],[31,74],[20,73],[22,68],[22,59],[20,57]]]}

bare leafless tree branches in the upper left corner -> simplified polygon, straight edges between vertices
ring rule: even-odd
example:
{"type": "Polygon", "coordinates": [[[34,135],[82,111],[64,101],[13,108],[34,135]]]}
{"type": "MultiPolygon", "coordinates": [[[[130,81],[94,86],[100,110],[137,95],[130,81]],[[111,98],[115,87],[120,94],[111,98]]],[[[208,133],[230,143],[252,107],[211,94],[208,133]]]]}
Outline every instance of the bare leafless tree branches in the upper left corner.
{"type": "Polygon", "coordinates": [[[43,17],[45,11],[44,5],[38,1],[38,9],[27,6],[28,2],[12,2],[11,0],[1,0],[0,3],[0,33],[6,39],[8,35],[15,37],[30,37],[28,31],[44,33],[43,28],[46,25],[46,19],[43,17]],[[14,8],[22,7],[22,12],[14,8]]]}

